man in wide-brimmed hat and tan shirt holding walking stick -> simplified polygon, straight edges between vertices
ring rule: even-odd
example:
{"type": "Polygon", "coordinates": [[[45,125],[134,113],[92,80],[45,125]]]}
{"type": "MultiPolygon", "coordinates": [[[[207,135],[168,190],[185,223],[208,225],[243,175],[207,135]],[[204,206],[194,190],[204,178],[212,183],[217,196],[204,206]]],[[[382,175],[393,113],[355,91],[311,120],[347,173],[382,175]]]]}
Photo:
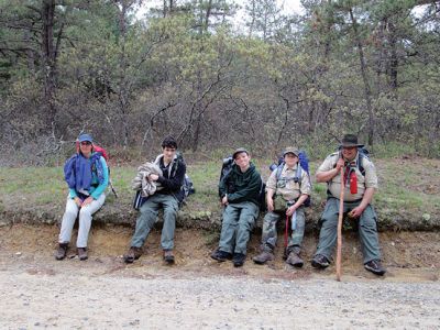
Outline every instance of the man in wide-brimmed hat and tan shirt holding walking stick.
{"type": "Polygon", "coordinates": [[[343,212],[359,221],[364,267],[376,275],[386,272],[381,264],[376,213],[371,206],[377,189],[377,175],[373,163],[360,150],[362,147],[363,144],[358,143],[356,135],[344,135],[340,151],[329,155],[316,174],[317,183],[328,184],[328,199],[320,220],[322,227],[318,249],[311,261],[316,268],[326,268],[329,265],[337,242],[339,196],[343,180],[343,212]],[[344,178],[341,178],[341,168],[344,168],[344,178]]]}

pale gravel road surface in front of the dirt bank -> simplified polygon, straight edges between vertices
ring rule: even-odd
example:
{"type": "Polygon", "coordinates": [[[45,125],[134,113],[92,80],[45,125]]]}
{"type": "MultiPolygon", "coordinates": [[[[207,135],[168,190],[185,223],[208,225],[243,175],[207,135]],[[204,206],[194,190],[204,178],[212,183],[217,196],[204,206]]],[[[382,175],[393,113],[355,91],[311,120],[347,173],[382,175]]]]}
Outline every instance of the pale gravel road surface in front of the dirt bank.
{"type": "Polygon", "coordinates": [[[0,328],[439,329],[440,324],[438,282],[73,271],[3,267],[0,328]]]}

